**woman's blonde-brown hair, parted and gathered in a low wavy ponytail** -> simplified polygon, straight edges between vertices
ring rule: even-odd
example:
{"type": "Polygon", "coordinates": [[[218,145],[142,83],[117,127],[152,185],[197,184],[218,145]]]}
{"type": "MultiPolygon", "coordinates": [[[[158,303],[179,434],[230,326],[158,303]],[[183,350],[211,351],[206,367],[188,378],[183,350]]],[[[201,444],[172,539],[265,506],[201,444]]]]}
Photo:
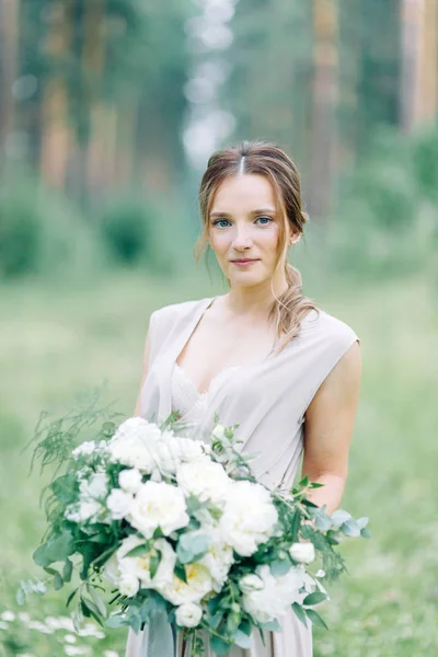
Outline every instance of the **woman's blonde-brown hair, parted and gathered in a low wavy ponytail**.
{"type": "MultiPolygon", "coordinates": [[[[277,270],[287,254],[287,229],[292,228],[295,233],[301,235],[308,216],[302,207],[301,182],[297,165],[278,146],[265,141],[243,141],[240,146],[215,152],[208,160],[199,187],[204,230],[194,247],[195,260],[199,261],[208,243],[209,214],[217,191],[226,178],[242,173],[263,175],[273,185],[277,209],[285,219],[275,263],[275,270],[277,270]]],[[[299,270],[286,262],[285,275],[288,288],[280,297],[276,297],[272,289],[275,301],[268,313],[268,319],[277,324],[278,339],[285,334],[279,351],[297,337],[301,322],[308,312],[311,310],[318,312],[314,302],[301,293],[302,279],[299,270]]],[[[228,283],[230,284],[229,280],[228,283]]]]}

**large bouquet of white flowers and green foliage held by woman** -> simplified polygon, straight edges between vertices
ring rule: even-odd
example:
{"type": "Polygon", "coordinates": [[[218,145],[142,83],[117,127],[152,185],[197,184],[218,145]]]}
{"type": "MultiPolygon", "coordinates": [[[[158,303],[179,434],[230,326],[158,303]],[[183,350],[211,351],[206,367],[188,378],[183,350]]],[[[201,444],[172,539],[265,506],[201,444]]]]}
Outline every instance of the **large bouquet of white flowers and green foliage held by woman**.
{"type": "Polygon", "coordinates": [[[218,655],[249,648],[253,631],[279,631],[290,609],[326,627],[315,611],[330,599],[321,579],[346,569],[336,546],[343,535],[368,538],[368,518],[328,516],[308,499],[321,485],[308,477],[267,488],[239,451],[239,425],[217,415],[206,441],[172,414],[161,425],[113,418],[78,445],[95,420],[51,423],[37,445],[43,464],[58,460],[65,471],[46,489],[48,530],[33,555],[47,578],[22,583],[21,602],[78,573],[67,599],[76,626],[84,616],[148,626],[148,657],[173,657],[175,630],[192,657],[206,641],[218,655]]]}

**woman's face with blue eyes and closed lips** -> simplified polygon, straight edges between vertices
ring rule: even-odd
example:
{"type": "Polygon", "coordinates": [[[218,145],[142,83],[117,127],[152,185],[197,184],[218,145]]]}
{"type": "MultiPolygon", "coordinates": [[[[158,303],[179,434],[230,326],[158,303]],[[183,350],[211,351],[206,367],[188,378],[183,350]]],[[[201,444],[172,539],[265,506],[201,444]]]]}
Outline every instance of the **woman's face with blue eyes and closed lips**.
{"type": "Polygon", "coordinates": [[[221,184],[208,217],[208,233],[232,287],[253,286],[273,277],[281,221],[265,176],[240,174],[221,184]],[[239,262],[242,260],[251,262],[239,262]]]}

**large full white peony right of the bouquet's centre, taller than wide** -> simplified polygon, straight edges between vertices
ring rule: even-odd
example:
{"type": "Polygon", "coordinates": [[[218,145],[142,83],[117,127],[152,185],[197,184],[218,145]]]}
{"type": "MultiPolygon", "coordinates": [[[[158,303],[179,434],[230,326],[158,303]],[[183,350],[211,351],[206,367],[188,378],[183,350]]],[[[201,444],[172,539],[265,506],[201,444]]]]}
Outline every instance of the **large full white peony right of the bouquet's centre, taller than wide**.
{"type": "Polygon", "coordinates": [[[273,534],[278,515],[269,491],[247,481],[233,482],[227,492],[219,529],[238,554],[251,556],[273,534]]]}

